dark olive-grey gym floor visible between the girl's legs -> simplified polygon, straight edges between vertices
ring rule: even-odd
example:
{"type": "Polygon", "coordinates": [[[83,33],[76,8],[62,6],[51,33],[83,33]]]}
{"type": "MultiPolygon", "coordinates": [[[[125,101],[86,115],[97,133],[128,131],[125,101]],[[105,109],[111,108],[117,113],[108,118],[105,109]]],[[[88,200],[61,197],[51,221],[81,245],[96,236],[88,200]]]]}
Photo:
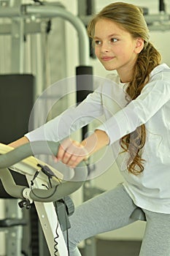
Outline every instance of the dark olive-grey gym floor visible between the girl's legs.
{"type": "MultiPolygon", "coordinates": [[[[96,240],[96,256],[138,256],[140,250],[140,241],[104,241],[96,240]]],[[[83,250],[81,250],[82,256],[83,250]]]]}

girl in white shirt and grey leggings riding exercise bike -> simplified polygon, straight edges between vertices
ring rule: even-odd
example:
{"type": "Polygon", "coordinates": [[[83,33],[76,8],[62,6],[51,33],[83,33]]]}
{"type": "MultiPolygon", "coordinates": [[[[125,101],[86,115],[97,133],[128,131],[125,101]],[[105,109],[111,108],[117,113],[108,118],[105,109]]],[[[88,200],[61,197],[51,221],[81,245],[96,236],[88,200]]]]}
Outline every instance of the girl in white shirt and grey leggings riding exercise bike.
{"type": "Polygon", "coordinates": [[[117,157],[117,165],[125,182],[76,209],[70,218],[70,255],[80,256],[77,244],[83,239],[132,223],[131,214],[140,207],[147,226],[139,255],[168,256],[170,68],[161,64],[158,50],[149,41],[142,11],[132,4],[109,4],[90,21],[88,34],[101,64],[117,71],[117,83],[103,84],[77,108],[67,110],[11,146],[29,140],[61,140],[104,114],[106,121],[93,135],[80,143],[64,140],[57,159],[74,167],[104,146],[115,150],[118,143],[122,154],[117,157]],[[125,168],[121,159],[126,161],[125,168]]]}

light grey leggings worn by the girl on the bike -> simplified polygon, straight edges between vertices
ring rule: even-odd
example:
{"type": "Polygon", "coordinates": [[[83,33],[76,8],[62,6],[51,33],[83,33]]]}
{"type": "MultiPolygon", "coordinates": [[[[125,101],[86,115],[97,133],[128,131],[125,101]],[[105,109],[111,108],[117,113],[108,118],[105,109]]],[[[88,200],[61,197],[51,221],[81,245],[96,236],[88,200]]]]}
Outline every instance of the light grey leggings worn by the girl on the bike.
{"type": "MultiPolygon", "coordinates": [[[[122,184],[82,203],[70,217],[70,256],[81,256],[77,249],[80,241],[134,222],[130,217],[135,208],[122,184]]],[[[170,214],[143,211],[147,225],[139,256],[169,256],[170,214]]]]}

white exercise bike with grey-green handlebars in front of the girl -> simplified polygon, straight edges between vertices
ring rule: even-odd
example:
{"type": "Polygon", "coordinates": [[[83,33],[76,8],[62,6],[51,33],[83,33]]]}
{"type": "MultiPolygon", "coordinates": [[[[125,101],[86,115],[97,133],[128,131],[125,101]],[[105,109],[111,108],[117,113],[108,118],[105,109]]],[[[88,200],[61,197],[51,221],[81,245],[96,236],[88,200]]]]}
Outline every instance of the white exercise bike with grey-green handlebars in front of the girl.
{"type": "Polygon", "coordinates": [[[63,230],[69,226],[66,221],[66,227],[62,227],[60,208],[66,210],[64,218],[74,212],[72,200],[66,202],[65,199],[82,186],[88,176],[88,168],[85,162],[81,162],[74,168],[72,178],[63,181],[62,172],[33,157],[40,154],[56,156],[58,146],[59,143],[49,141],[26,143],[18,148],[0,143],[0,178],[7,194],[20,199],[18,207],[29,209],[34,203],[50,255],[69,256],[63,236],[63,230]],[[28,186],[16,184],[9,168],[26,176],[28,186]]]}

